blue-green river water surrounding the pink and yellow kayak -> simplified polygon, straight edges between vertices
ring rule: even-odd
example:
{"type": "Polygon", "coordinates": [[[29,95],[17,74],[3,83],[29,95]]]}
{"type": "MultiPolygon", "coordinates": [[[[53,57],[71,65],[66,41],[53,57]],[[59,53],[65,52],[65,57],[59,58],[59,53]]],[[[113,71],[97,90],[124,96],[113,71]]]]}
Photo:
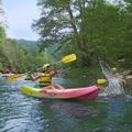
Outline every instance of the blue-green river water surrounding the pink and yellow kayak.
{"type": "MultiPolygon", "coordinates": [[[[88,79],[54,78],[63,86],[88,86],[88,79]]],[[[132,97],[52,100],[25,97],[33,82],[0,78],[0,132],[132,132],[132,97]]]]}

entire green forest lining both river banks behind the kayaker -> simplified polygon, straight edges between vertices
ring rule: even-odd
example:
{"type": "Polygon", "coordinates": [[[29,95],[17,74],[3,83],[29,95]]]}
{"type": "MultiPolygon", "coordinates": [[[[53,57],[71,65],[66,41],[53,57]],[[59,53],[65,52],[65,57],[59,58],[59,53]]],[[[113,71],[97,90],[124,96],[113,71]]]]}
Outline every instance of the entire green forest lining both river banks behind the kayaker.
{"type": "Polygon", "coordinates": [[[72,53],[77,55],[74,67],[92,67],[102,59],[131,69],[132,0],[37,0],[36,6],[41,16],[31,23],[40,35],[35,52],[9,38],[0,22],[0,70],[23,73],[72,53]]]}

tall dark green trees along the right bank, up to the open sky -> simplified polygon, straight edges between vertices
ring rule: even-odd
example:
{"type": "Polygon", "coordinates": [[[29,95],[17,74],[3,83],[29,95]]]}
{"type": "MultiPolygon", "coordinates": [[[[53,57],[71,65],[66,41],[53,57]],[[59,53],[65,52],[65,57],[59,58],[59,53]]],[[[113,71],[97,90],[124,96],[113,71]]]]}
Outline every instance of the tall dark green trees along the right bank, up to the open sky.
{"type": "Polygon", "coordinates": [[[99,59],[132,67],[132,1],[37,0],[41,16],[32,23],[41,50],[57,44],[56,53],[76,53],[79,66],[99,59]]]}

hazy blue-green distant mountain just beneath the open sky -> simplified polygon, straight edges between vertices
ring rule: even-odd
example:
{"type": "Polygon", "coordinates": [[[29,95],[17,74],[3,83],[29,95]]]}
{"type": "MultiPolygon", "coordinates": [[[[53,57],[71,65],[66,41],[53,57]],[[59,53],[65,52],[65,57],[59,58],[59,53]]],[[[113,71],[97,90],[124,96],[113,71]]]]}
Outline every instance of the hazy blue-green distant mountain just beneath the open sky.
{"type": "Polygon", "coordinates": [[[29,41],[29,40],[16,40],[16,41],[19,45],[25,46],[30,52],[38,51],[38,43],[36,41],[29,41]]]}

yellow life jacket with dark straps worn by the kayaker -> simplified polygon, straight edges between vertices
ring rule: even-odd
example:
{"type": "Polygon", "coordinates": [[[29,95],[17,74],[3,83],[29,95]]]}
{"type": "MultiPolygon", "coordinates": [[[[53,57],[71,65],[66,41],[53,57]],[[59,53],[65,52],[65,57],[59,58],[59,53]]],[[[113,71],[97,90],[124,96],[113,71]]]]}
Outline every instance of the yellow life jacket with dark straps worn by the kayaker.
{"type": "Polygon", "coordinates": [[[52,77],[47,73],[42,73],[40,77],[40,87],[46,87],[52,84],[52,77]]]}

